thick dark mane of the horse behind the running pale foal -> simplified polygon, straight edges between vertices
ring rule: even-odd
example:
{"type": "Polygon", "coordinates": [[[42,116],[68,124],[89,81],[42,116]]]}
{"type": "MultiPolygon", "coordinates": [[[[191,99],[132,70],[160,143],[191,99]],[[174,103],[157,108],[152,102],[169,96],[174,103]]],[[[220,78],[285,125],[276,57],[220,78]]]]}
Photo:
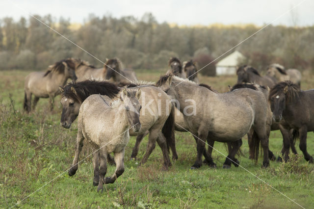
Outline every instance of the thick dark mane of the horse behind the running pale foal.
{"type": "Polygon", "coordinates": [[[72,98],[80,103],[92,94],[107,95],[108,97],[113,98],[120,91],[114,83],[96,80],[71,82],[64,86],[63,89],[63,97],[72,98]]]}

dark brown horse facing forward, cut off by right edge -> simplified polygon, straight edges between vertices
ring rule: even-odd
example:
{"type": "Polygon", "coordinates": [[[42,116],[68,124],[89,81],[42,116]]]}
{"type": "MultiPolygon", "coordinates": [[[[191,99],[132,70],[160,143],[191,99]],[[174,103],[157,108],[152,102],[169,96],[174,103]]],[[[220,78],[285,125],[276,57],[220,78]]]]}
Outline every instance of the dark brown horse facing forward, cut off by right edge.
{"type": "MultiPolygon", "coordinates": [[[[314,90],[302,91],[296,83],[286,80],[273,86],[268,98],[273,120],[286,130],[293,129],[294,139],[300,136],[300,150],[304,158],[313,163],[313,157],[306,149],[306,139],[307,132],[314,131],[314,90]]],[[[289,149],[289,141],[286,143],[284,148],[289,149]]]]}

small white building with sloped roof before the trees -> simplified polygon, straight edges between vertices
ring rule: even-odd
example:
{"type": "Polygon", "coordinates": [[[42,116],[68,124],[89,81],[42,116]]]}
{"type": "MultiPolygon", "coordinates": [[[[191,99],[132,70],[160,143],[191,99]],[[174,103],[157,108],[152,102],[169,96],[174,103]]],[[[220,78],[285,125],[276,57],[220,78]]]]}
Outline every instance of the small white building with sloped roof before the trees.
{"type": "Polygon", "coordinates": [[[238,51],[235,51],[216,64],[216,76],[220,75],[235,75],[236,69],[245,56],[238,51]]]}

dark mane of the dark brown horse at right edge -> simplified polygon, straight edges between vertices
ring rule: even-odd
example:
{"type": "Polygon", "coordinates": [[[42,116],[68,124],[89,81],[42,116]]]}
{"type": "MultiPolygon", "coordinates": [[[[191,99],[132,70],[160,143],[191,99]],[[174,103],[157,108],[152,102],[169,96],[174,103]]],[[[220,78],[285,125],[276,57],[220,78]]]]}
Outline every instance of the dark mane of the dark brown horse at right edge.
{"type": "Polygon", "coordinates": [[[287,102],[292,102],[295,99],[299,98],[299,92],[301,91],[300,87],[293,83],[290,80],[286,80],[280,83],[277,83],[269,91],[268,99],[272,99],[279,94],[284,93],[286,95],[287,102]]]}

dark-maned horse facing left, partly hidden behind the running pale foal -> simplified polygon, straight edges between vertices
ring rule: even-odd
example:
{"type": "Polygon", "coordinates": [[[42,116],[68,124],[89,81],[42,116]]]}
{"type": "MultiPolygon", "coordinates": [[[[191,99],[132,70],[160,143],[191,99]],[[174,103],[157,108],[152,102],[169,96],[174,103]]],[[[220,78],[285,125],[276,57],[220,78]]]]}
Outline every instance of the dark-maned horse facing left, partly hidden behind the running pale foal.
{"type": "MultiPolygon", "coordinates": [[[[128,89],[138,88],[142,91],[142,99],[140,100],[140,104],[143,105],[143,110],[140,114],[142,128],[139,132],[130,130],[130,135],[142,137],[143,134],[149,132],[149,142],[141,164],[147,161],[155,149],[157,141],[162,150],[164,168],[166,169],[168,166],[171,166],[171,162],[165,137],[174,137],[174,111],[170,103],[170,97],[155,86],[137,86],[128,89]]],[[[93,80],[70,83],[61,88],[61,104],[63,106],[60,120],[61,126],[67,129],[71,127],[71,124],[78,116],[80,105],[88,96],[101,94],[114,97],[119,92],[119,89],[114,83],[93,80]]]]}

